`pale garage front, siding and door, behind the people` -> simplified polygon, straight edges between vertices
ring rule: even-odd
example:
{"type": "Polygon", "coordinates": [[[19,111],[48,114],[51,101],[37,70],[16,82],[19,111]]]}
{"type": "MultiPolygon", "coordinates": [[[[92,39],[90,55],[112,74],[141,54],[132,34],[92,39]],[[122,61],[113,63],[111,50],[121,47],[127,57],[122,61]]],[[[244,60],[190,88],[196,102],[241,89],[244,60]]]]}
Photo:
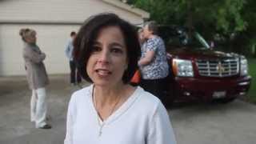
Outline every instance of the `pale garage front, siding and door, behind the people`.
{"type": "Polygon", "coordinates": [[[38,46],[46,53],[49,74],[69,73],[64,46],[72,30],[90,15],[113,12],[127,21],[141,23],[142,16],[102,0],[0,0],[0,76],[24,75],[21,28],[38,33],[38,46]]]}

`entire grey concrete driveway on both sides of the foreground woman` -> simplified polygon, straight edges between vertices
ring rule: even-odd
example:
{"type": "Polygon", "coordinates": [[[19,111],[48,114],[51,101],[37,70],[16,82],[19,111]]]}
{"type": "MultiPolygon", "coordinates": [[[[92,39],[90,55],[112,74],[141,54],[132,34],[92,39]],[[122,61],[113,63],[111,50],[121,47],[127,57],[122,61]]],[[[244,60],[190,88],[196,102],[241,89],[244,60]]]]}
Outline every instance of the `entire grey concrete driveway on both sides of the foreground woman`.
{"type": "MultiPolygon", "coordinates": [[[[63,143],[70,94],[68,75],[50,76],[48,87],[51,130],[38,130],[30,122],[30,90],[26,78],[0,78],[0,143],[63,143]]],[[[88,83],[84,83],[87,86],[88,83]]],[[[256,106],[242,101],[230,104],[190,104],[169,110],[178,144],[255,144],[256,106]]]]}

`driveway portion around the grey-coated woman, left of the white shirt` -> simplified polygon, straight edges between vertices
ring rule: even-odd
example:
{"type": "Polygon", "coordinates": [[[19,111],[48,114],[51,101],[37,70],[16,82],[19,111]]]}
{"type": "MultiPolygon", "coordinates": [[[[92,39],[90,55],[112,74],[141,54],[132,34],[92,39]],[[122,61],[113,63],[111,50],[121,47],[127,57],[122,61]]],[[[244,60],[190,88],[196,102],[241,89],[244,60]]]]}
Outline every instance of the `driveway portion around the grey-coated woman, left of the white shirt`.
{"type": "Polygon", "coordinates": [[[73,91],[68,75],[50,77],[47,87],[51,130],[39,130],[30,122],[30,90],[26,78],[0,78],[0,143],[58,144],[66,130],[66,109],[73,91]]]}

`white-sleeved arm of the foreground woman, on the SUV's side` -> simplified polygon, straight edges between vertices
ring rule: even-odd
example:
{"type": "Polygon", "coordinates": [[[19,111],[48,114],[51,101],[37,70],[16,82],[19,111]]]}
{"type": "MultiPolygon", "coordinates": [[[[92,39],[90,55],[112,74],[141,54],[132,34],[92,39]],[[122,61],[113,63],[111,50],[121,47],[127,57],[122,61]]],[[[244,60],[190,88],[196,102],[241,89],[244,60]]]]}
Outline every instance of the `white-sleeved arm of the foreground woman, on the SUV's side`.
{"type": "Polygon", "coordinates": [[[177,144],[166,108],[161,102],[150,120],[147,144],[177,144]]]}

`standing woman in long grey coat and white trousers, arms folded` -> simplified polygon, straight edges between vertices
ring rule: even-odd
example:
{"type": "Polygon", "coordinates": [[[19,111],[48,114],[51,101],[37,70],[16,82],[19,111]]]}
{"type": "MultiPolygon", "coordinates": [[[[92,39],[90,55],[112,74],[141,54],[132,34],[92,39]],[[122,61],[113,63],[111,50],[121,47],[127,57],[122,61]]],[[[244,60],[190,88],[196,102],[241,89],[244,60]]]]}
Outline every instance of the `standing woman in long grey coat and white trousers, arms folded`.
{"type": "Polygon", "coordinates": [[[30,120],[36,128],[50,129],[46,123],[46,85],[49,83],[43,60],[46,54],[36,45],[36,32],[32,29],[22,29],[19,34],[24,42],[23,58],[25,60],[26,77],[32,96],[30,99],[30,120]]]}

